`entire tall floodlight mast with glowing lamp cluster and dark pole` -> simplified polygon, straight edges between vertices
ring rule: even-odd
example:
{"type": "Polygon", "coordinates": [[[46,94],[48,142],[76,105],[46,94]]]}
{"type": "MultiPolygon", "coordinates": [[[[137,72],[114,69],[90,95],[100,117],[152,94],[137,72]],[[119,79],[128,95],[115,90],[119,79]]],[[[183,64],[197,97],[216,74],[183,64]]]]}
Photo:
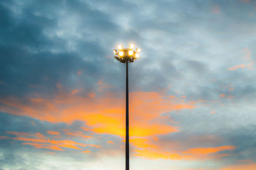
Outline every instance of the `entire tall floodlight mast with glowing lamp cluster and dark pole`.
{"type": "Polygon", "coordinates": [[[128,63],[134,62],[134,60],[140,57],[140,48],[136,48],[133,51],[134,45],[130,44],[129,48],[123,48],[122,45],[118,45],[118,50],[113,50],[115,53],[115,59],[126,63],[126,113],[125,113],[125,170],[129,170],[129,83],[128,83],[128,63]]]}

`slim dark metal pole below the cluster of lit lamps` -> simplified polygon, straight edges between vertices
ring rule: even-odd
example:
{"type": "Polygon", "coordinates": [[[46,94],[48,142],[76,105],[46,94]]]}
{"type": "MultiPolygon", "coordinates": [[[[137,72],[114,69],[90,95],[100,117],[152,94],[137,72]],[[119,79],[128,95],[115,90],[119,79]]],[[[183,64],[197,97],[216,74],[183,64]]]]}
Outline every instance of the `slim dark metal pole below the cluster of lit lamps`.
{"type": "Polygon", "coordinates": [[[126,60],[126,113],[125,113],[125,170],[129,170],[129,83],[128,59],[126,60]]]}

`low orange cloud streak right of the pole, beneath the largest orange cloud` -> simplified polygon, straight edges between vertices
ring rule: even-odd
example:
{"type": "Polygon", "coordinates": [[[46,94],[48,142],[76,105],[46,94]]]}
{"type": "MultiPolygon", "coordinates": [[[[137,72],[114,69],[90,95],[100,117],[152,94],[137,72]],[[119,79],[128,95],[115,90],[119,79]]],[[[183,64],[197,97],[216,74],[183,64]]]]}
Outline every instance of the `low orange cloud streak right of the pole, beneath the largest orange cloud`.
{"type": "MultiPolygon", "coordinates": [[[[198,138],[198,137],[193,137],[198,138]]],[[[214,136],[205,136],[202,139],[211,138],[215,140],[214,136]]],[[[209,147],[209,148],[189,148],[188,150],[183,150],[184,147],[180,148],[179,143],[173,143],[168,141],[168,143],[163,143],[152,138],[131,138],[130,143],[132,144],[133,155],[145,157],[148,159],[173,159],[173,160],[198,160],[198,159],[215,159],[216,157],[225,157],[230,154],[216,155],[223,150],[234,150],[235,146],[219,146],[219,147],[209,147]]]]}

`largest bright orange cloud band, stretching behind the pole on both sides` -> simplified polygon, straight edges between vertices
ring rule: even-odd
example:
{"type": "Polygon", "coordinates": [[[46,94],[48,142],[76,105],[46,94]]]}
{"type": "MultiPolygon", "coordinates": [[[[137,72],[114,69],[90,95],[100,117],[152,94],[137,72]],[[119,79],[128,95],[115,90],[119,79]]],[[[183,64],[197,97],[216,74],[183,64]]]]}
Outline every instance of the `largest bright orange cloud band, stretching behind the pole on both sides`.
{"type": "MultiPolygon", "coordinates": [[[[99,82],[102,84],[102,82],[99,82]]],[[[184,102],[157,92],[133,92],[130,94],[131,136],[154,136],[179,131],[177,127],[157,122],[162,113],[175,110],[193,109],[198,101],[184,102]],[[152,121],[154,120],[154,122],[152,121]]],[[[14,115],[26,115],[52,123],[83,121],[96,133],[125,134],[124,98],[113,96],[91,98],[65,94],[61,90],[53,98],[17,97],[0,99],[0,109],[14,115]]],[[[160,120],[159,120],[160,121],[160,120]]]]}

